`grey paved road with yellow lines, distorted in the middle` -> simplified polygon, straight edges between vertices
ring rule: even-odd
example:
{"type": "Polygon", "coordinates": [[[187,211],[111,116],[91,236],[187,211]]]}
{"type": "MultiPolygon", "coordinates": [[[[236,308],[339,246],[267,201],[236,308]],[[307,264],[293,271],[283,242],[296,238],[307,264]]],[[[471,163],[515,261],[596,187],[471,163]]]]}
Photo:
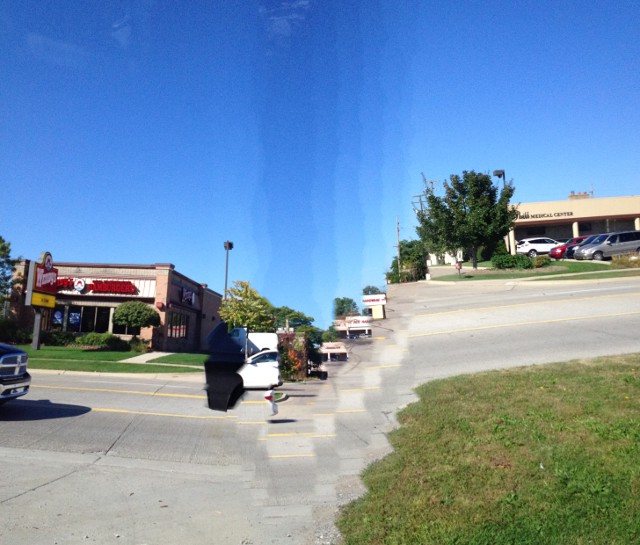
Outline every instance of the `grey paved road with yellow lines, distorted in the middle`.
{"type": "Polygon", "coordinates": [[[390,286],[329,380],[205,406],[204,377],[34,371],[0,409],[0,542],[337,543],[338,507],[427,380],[640,352],[640,279],[390,286]]]}

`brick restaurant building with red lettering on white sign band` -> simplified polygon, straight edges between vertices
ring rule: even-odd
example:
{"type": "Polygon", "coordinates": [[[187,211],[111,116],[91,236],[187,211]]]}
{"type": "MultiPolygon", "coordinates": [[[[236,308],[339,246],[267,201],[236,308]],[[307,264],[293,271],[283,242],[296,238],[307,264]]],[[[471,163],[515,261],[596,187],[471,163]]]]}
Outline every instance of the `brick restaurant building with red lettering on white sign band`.
{"type": "MultiPolygon", "coordinates": [[[[56,306],[44,309],[43,331],[74,334],[110,332],[130,339],[151,341],[154,350],[198,352],[220,323],[222,295],[175,270],[170,263],[155,265],[108,265],[58,263],[56,306]],[[127,330],[113,323],[113,313],[125,301],[143,301],[160,314],[161,325],[127,330]]],[[[25,307],[29,261],[16,268],[24,279],[11,297],[11,311],[21,326],[33,324],[34,311],[25,307]]]]}

